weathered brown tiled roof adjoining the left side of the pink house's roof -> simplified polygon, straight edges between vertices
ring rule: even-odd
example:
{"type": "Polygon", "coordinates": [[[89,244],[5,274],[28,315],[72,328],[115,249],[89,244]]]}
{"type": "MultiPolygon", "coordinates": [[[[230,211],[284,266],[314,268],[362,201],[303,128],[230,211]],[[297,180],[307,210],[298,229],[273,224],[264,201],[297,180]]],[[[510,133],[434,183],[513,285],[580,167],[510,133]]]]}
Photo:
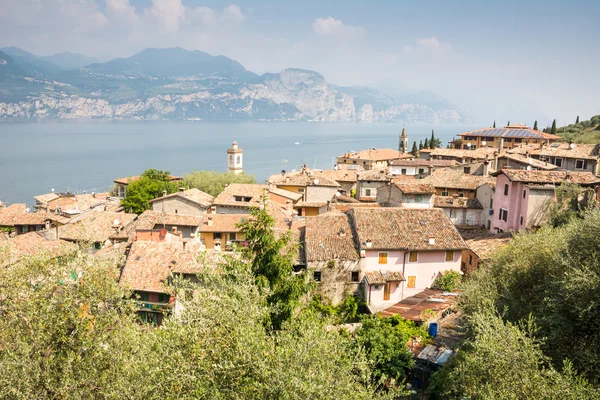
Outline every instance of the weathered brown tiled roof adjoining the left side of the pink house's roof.
{"type": "Polygon", "coordinates": [[[307,262],[360,259],[349,216],[339,212],[306,219],[304,250],[307,262]]]}

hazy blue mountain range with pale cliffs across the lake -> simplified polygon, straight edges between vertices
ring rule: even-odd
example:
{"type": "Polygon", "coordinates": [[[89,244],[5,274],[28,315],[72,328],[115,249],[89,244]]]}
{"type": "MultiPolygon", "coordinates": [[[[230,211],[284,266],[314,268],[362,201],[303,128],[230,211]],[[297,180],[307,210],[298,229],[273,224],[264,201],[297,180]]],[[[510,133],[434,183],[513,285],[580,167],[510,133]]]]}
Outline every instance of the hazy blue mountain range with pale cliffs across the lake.
{"type": "Polygon", "coordinates": [[[389,82],[342,87],[296,68],[258,75],[225,56],[145,49],[108,62],[0,49],[0,117],[468,123],[444,97],[389,82]]]}

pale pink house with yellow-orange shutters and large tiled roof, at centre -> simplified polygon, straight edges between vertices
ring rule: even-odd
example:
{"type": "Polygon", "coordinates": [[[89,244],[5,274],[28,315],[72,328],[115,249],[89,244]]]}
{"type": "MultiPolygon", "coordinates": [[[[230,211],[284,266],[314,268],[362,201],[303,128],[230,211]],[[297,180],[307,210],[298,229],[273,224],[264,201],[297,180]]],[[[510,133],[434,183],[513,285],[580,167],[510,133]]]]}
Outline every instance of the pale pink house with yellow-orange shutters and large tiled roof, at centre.
{"type": "Polygon", "coordinates": [[[460,272],[467,246],[443,210],[355,208],[350,211],[364,258],[364,296],[378,311],[460,272]]]}

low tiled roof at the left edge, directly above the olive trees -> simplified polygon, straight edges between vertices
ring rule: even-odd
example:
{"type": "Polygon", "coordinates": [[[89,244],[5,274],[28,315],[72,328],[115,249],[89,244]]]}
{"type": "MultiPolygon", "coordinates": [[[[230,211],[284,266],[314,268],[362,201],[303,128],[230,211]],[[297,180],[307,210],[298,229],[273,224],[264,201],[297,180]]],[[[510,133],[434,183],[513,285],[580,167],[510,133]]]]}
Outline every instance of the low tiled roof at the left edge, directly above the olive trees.
{"type": "Polygon", "coordinates": [[[47,240],[37,232],[29,232],[0,242],[0,265],[14,263],[24,256],[59,257],[73,252],[76,248],[73,243],[47,240]]]}

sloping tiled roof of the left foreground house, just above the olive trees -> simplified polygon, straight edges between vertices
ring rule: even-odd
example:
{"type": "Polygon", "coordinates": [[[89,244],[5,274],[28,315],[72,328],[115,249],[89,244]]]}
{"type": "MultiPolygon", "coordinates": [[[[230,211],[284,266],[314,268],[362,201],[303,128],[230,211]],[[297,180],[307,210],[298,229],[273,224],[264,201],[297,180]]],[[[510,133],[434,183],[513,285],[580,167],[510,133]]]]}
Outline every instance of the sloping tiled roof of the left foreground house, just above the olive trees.
{"type": "Polygon", "coordinates": [[[132,290],[165,293],[165,281],[182,253],[181,242],[134,242],[119,283],[132,290]]]}

